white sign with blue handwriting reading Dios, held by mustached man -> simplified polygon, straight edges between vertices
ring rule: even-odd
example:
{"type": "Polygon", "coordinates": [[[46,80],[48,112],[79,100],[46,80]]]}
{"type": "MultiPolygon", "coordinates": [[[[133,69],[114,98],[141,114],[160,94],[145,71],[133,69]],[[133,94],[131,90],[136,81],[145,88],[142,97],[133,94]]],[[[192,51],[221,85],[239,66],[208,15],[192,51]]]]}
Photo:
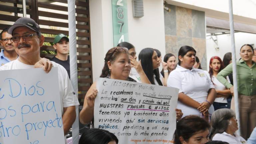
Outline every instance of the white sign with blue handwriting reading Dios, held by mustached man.
{"type": "Polygon", "coordinates": [[[0,71],[0,144],[64,144],[58,69],[0,71]]]}

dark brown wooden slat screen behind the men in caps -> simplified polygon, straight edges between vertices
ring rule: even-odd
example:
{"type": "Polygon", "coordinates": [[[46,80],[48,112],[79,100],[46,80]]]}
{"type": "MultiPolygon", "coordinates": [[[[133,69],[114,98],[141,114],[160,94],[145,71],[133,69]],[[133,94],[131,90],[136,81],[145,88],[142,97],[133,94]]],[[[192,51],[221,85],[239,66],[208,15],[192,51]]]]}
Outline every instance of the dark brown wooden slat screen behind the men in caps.
{"type": "MultiPolygon", "coordinates": [[[[83,104],[85,93],[92,84],[89,0],[76,0],[75,3],[78,97],[80,104],[83,104]]],[[[26,0],[26,5],[27,15],[40,25],[41,32],[45,36],[41,57],[50,59],[54,56],[49,51],[55,51],[50,45],[55,35],[59,33],[68,35],[67,0],[26,0]]],[[[22,16],[22,0],[0,0],[0,30],[9,27],[22,16]]]]}

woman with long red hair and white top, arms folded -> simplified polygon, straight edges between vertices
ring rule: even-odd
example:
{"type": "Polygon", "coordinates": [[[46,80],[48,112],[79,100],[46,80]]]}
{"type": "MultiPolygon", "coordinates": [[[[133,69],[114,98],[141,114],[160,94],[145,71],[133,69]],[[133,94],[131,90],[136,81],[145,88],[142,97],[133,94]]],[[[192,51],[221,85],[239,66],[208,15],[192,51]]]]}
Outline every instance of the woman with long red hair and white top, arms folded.
{"type": "MultiPolygon", "coordinates": [[[[227,97],[231,94],[230,90],[227,89],[222,83],[217,80],[217,74],[224,68],[222,60],[218,56],[213,56],[210,59],[209,74],[211,81],[217,92],[217,96],[213,102],[214,110],[221,108],[228,108],[227,97]]],[[[228,81],[228,77],[226,78],[228,81]]]]}

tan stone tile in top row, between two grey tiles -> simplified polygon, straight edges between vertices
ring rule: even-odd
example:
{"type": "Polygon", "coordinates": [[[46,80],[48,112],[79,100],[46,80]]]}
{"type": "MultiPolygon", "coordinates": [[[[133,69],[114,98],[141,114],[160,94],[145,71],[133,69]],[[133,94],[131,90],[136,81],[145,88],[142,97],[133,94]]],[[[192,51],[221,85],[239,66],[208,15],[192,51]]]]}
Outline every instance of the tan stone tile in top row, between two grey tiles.
{"type": "Polygon", "coordinates": [[[192,10],[176,6],[177,36],[192,37],[192,10]]]}

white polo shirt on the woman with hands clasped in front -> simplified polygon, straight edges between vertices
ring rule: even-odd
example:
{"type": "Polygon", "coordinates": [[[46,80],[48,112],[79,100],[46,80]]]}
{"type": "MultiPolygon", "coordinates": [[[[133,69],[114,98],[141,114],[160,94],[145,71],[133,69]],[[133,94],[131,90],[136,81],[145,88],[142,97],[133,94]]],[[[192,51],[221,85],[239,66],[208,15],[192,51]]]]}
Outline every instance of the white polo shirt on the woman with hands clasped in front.
{"type": "MultiPolygon", "coordinates": [[[[179,65],[169,74],[167,86],[178,88],[179,93],[183,92],[199,103],[206,101],[208,90],[214,88],[204,70],[193,67],[191,70],[188,70],[179,65]]],[[[198,109],[187,106],[179,101],[177,108],[182,110],[183,117],[191,114],[201,116],[198,109]]],[[[209,113],[212,114],[213,112],[214,108],[211,105],[209,113]]]]}

